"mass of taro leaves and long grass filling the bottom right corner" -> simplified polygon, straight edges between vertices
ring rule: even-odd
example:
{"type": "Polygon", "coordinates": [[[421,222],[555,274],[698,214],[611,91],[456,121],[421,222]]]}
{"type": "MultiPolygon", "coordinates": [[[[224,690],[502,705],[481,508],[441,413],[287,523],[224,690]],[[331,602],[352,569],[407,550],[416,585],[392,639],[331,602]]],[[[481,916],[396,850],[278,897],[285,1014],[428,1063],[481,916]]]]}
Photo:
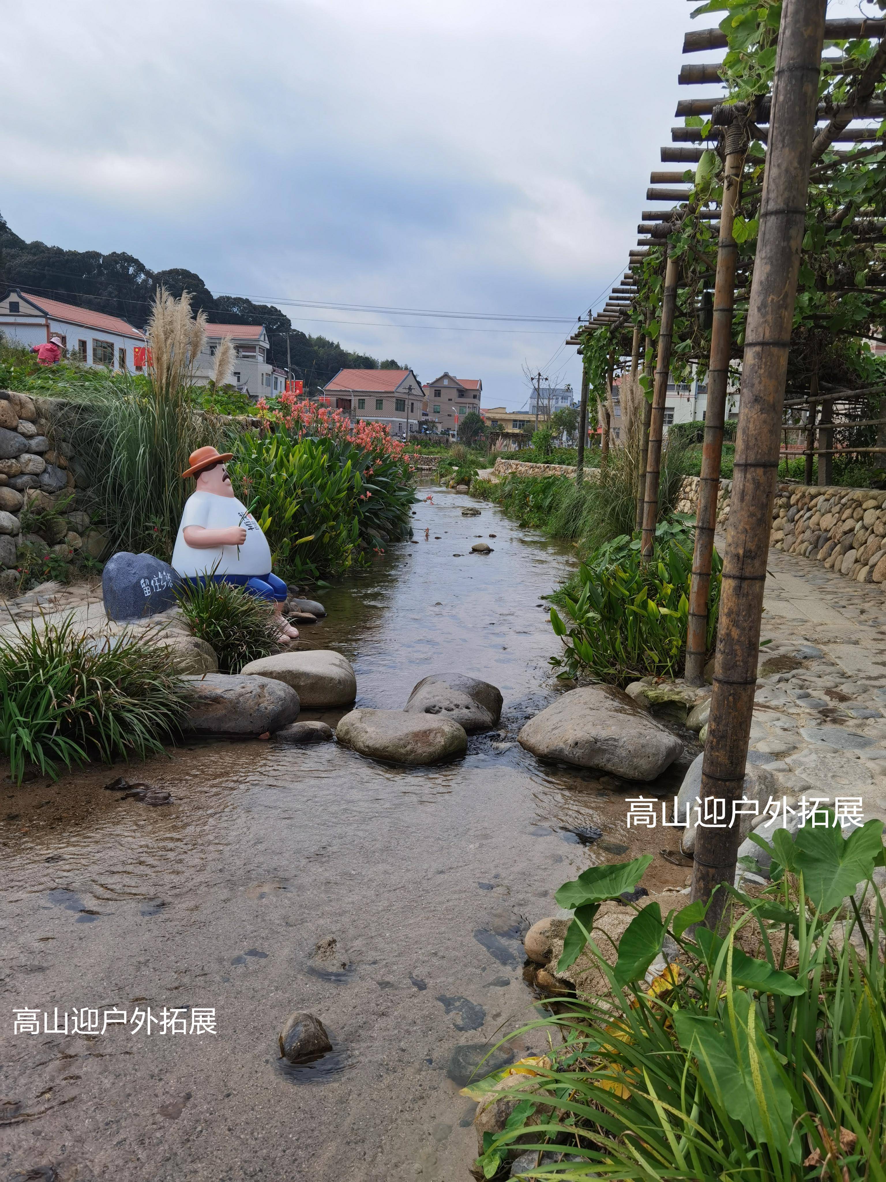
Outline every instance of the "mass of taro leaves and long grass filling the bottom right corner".
{"type": "Polygon", "coordinates": [[[516,1176],[886,1180],[882,823],[847,838],[828,821],[776,831],[771,845],[756,837],[773,882],[755,897],[719,888],[722,935],[701,903],[663,916],[652,902],[634,904],[617,946],[598,937],[599,907],[639,882],[649,856],[560,888],[573,918],[558,970],[584,955],[607,995],[561,1001],[515,1032],[541,1028],[552,1050],[470,1090],[499,1083],[514,1104],[484,1135],[477,1176],[503,1177],[535,1150],[538,1168],[516,1176]]]}

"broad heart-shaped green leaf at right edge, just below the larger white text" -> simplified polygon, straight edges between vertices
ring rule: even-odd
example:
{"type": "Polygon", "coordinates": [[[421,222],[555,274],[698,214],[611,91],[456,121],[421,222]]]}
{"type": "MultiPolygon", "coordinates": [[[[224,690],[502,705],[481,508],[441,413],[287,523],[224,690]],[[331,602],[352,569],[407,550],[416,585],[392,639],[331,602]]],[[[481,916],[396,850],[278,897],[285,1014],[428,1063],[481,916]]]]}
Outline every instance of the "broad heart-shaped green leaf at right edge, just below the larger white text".
{"type": "MultiPolygon", "coordinates": [[[[833,820],[834,814],[828,812],[828,821],[833,820]]],[[[784,830],[778,830],[774,838],[780,833],[784,830]]],[[[783,844],[776,845],[776,850],[780,851],[783,844]]],[[[869,820],[848,838],[843,838],[839,825],[828,824],[827,829],[803,825],[794,838],[790,860],[780,860],[794,873],[802,873],[803,890],[813,905],[830,911],[853,895],[860,882],[871,877],[881,853],[882,821],[869,820]]]]}

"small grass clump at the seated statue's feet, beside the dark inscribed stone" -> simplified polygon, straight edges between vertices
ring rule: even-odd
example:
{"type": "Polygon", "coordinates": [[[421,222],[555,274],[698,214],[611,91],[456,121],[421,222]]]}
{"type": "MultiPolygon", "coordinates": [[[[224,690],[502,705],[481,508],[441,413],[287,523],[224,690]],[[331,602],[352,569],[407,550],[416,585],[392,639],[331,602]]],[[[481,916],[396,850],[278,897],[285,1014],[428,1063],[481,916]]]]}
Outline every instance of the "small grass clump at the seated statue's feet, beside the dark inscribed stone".
{"type": "Polygon", "coordinates": [[[221,673],[240,673],[250,661],[280,651],[280,625],[267,600],[211,578],[185,580],[175,596],[193,635],[215,650],[221,673]]]}

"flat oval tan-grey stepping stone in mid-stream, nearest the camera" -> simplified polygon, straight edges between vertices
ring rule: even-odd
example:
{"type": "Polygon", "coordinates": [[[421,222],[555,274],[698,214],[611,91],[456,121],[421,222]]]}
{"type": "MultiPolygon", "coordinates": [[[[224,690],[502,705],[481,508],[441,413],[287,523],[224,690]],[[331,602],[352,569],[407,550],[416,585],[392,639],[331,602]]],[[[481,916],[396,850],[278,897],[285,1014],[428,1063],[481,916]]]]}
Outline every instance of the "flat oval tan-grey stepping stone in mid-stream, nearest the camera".
{"type": "Polygon", "coordinates": [[[351,710],[335,738],[360,755],[393,764],[436,764],[468,749],[468,735],[457,722],[405,710],[351,710]]]}

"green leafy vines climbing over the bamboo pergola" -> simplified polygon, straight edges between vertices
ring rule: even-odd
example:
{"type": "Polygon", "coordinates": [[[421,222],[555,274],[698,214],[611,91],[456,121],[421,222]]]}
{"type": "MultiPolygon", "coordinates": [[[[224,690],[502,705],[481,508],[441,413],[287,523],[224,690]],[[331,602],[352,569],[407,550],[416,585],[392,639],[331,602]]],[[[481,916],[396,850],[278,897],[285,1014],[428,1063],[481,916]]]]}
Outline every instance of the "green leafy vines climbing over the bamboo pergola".
{"type": "MultiPolygon", "coordinates": [[[[886,8],[886,0],[878,0],[886,8]]],[[[745,104],[749,148],[734,238],[738,243],[738,275],[734,314],[732,357],[744,345],[750,275],[757,236],[757,214],[766,162],[768,103],[781,4],[776,0],[712,0],[693,13],[722,12],[719,30],[728,52],[719,69],[727,87],[723,106],[745,104]],[[758,123],[756,121],[760,121],[758,123]]],[[[878,138],[848,150],[816,134],[806,215],[806,238],[800,271],[788,388],[806,388],[809,375],[853,387],[886,379],[884,362],[875,359],[865,338],[882,339],[886,323],[886,84],[884,41],[861,38],[827,41],[819,86],[819,116],[832,121],[847,104],[856,117],[880,118],[878,138]],[[836,51],[834,53],[833,51],[836,51]],[[830,60],[829,60],[830,59],[830,60]],[[819,150],[820,149],[820,150],[819,150]]],[[[722,201],[723,139],[714,117],[688,116],[712,147],[684,180],[692,184],[689,201],[673,210],[673,229],[634,267],[638,293],[628,313],[628,327],[644,325],[656,339],[662,301],[665,252],[679,259],[680,280],[675,318],[671,372],[677,381],[689,376],[695,362],[703,377],[710,351],[711,291],[716,268],[717,226],[711,212],[722,201]],[[705,217],[704,214],[708,214],[705,217]]],[[[826,125],[826,131],[829,122],[826,125]]],[[[839,131],[834,139],[839,142],[839,131]]],[[[588,333],[591,340],[613,335],[613,329],[588,333]]],[[[624,356],[624,333],[620,337],[624,356]]],[[[587,338],[586,338],[587,340],[587,338]]],[[[610,346],[612,336],[610,336],[610,346]]],[[[604,342],[600,343],[600,352],[604,342]]],[[[589,342],[585,344],[587,357],[589,342]]],[[[598,350],[592,350],[598,357],[598,350]]],[[[587,364],[587,361],[586,361],[587,364]]],[[[592,370],[598,375],[599,362],[592,370]]]]}

